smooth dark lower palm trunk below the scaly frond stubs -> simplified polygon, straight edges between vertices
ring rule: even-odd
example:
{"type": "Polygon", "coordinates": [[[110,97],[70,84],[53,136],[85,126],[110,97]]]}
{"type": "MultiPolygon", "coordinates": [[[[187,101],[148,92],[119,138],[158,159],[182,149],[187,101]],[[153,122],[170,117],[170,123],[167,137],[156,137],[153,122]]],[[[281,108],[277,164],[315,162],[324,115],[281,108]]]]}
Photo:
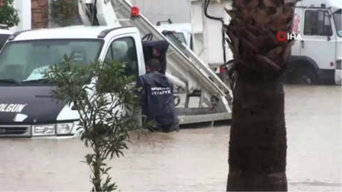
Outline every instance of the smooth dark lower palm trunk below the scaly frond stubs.
{"type": "Polygon", "coordinates": [[[233,96],[227,192],[286,192],[282,83],[238,79],[233,96]]]}

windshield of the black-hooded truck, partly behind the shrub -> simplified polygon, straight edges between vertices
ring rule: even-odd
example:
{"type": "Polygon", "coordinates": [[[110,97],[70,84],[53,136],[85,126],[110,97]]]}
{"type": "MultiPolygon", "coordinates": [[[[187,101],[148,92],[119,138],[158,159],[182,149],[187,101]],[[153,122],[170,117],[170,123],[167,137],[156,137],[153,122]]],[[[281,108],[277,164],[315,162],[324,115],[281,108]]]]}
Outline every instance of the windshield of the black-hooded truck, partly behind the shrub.
{"type": "Polygon", "coordinates": [[[0,80],[16,82],[44,78],[51,64],[61,63],[64,54],[79,65],[88,65],[98,58],[103,41],[99,39],[49,39],[12,41],[0,53],[0,80]]]}

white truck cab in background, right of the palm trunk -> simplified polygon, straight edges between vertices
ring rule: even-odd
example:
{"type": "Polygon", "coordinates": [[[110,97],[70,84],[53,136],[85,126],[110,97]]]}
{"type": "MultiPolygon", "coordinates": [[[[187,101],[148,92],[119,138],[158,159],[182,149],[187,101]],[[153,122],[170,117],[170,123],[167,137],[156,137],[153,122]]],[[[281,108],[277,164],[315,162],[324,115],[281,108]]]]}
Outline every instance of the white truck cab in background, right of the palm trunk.
{"type": "Polygon", "coordinates": [[[291,50],[286,80],[342,83],[342,1],[299,1],[292,32],[301,35],[291,50]]]}

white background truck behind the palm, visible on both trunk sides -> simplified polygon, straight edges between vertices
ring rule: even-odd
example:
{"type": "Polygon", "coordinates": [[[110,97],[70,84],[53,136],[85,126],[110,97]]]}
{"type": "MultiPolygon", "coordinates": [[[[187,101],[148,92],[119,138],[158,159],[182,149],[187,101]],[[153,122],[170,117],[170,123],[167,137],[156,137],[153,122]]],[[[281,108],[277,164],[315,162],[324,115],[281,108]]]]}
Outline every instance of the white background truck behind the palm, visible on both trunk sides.
{"type": "MultiPolygon", "coordinates": [[[[232,1],[189,0],[189,3],[194,52],[201,53],[200,58],[209,66],[232,59],[231,51],[222,41],[227,37],[221,33],[222,23],[230,21],[224,8],[232,9],[232,1]]],[[[300,34],[302,40],[292,47],[285,82],[342,84],[342,1],[299,1],[292,25],[292,32],[300,34]]]]}

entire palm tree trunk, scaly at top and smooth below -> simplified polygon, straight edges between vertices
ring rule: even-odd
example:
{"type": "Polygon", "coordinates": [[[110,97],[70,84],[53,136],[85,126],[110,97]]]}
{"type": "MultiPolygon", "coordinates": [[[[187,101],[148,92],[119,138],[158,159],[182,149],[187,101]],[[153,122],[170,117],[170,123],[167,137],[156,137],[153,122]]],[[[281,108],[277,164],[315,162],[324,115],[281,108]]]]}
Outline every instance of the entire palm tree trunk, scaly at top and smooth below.
{"type": "Polygon", "coordinates": [[[281,76],[294,41],[277,40],[291,31],[298,0],[233,0],[226,26],[234,60],[229,73],[233,113],[227,192],[287,192],[286,127],[281,76]],[[234,83],[232,83],[234,85],[234,83]]]}

